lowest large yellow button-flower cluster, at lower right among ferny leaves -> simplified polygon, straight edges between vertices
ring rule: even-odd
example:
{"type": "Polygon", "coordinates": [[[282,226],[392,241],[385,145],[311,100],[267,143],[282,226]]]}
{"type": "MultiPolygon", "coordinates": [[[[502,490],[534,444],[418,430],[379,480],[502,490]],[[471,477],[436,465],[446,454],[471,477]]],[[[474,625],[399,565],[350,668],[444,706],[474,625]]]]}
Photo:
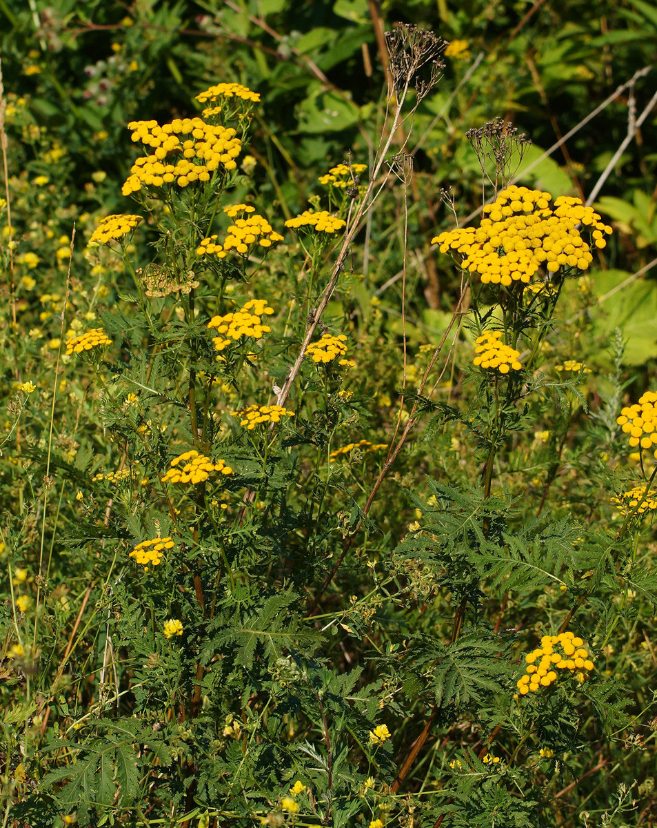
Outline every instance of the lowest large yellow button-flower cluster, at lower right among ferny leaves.
{"type": "Polygon", "coordinates": [[[541,686],[549,687],[557,681],[557,670],[567,670],[580,683],[584,681],[594,665],[583,643],[573,633],[544,635],[540,639],[540,648],[525,656],[527,672],[517,682],[520,695],[526,696],[541,686]]]}

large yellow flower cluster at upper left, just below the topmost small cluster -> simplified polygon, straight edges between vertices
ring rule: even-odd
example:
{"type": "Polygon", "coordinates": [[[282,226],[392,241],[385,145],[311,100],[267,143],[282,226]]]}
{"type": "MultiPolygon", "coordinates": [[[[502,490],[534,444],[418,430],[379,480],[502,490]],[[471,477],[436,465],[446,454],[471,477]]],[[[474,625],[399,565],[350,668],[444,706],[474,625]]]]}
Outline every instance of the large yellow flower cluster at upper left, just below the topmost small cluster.
{"type": "Polygon", "coordinates": [[[123,195],[138,192],[142,185],[175,183],[186,187],[194,181],[209,181],[219,166],[234,170],[235,158],[242,152],[242,142],[233,128],[213,126],[201,118],[175,118],[162,127],[157,121],[132,121],[127,126],[133,130],[132,141],[153,147],[154,152],[137,158],[132,175],[123,184],[123,195]]]}

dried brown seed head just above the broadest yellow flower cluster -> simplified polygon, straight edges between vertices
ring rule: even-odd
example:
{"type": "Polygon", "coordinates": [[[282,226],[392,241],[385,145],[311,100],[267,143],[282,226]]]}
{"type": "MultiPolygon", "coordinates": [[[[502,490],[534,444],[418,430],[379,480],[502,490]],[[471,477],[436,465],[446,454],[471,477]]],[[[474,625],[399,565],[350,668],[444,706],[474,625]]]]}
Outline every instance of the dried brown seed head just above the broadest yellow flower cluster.
{"type": "Polygon", "coordinates": [[[495,188],[495,195],[498,187],[505,186],[511,179],[530,146],[530,139],[525,134],[516,135],[516,132],[518,129],[510,121],[498,116],[482,127],[468,129],[465,133],[482,167],[482,189],[485,179],[488,179],[495,188]],[[516,166],[511,171],[514,156],[516,166]]]}

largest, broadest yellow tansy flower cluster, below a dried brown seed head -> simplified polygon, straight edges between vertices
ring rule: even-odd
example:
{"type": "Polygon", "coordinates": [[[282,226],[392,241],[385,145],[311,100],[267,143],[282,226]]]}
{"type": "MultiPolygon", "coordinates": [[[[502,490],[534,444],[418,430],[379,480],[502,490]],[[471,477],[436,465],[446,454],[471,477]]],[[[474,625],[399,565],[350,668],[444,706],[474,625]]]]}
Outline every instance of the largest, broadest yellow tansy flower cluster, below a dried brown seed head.
{"type": "Polygon", "coordinates": [[[461,267],[478,273],[483,284],[526,284],[543,264],[550,273],[561,267],[587,270],[593,257],[579,225],[592,228],[597,248],[605,247],[603,233],[611,227],[579,199],[560,195],[553,208],[550,200],[549,193],[511,185],[483,207],[486,217],[478,228],[449,230],[431,243],[441,253],[460,253],[461,267]]]}

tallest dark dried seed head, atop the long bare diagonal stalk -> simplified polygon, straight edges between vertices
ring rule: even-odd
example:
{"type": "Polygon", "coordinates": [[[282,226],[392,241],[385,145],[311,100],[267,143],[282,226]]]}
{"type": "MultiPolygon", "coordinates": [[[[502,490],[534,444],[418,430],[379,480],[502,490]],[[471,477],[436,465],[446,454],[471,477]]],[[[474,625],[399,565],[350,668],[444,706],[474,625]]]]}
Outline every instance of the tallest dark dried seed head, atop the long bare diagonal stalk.
{"type": "Polygon", "coordinates": [[[433,31],[397,23],[392,31],[386,31],[386,46],[396,93],[402,94],[413,81],[419,103],[440,79],[444,63],[439,55],[447,42],[433,31]]]}

